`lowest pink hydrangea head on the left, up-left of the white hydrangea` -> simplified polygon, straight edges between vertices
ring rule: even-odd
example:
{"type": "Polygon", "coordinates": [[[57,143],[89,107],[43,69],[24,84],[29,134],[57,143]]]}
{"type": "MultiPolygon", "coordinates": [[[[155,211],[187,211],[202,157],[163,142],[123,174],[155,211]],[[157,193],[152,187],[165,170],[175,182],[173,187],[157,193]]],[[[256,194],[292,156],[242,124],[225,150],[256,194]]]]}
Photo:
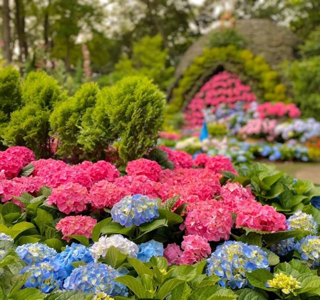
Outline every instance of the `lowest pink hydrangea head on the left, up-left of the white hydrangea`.
{"type": "Polygon", "coordinates": [[[84,235],[91,237],[92,231],[96,225],[96,219],[87,216],[68,216],[61,219],[56,225],[56,229],[60,230],[64,235],[62,238],[70,241],[68,235],[84,235]]]}

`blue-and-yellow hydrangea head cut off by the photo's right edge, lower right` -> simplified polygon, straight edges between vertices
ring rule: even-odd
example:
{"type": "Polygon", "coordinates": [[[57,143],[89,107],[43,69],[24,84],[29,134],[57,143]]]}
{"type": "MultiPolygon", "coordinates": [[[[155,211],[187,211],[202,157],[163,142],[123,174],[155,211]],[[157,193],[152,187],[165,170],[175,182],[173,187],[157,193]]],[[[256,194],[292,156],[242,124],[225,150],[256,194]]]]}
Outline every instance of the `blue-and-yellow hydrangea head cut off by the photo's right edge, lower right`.
{"type": "Polygon", "coordinates": [[[295,249],[300,253],[301,259],[310,267],[320,265],[320,237],[307,235],[295,244],[295,249]]]}

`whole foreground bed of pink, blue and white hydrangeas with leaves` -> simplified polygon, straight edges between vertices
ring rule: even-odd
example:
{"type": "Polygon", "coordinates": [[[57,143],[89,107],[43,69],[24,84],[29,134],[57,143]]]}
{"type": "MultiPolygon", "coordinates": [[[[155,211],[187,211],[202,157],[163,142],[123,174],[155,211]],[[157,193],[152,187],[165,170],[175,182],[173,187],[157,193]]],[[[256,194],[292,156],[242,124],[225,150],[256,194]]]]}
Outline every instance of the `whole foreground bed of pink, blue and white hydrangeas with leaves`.
{"type": "Polygon", "coordinates": [[[265,165],[158,151],[173,169],[138,159],[120,173],[105,161],[1,152],[2,295],[319,297],[319,188],[265,165]]]}

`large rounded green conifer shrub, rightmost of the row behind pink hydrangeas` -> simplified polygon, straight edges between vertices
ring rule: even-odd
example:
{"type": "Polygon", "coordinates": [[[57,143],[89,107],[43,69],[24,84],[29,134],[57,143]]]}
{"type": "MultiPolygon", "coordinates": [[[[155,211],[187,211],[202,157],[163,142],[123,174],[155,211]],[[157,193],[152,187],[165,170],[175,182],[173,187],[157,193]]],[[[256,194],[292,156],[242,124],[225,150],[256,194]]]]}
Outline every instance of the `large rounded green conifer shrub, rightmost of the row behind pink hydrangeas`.
{"type": "Polygon", "coordinates": [[[142,157],[154,146],[163,122],[164,95],[144,77],[127,77],[101,93],[117,148],[124,162],[142,157]]]}

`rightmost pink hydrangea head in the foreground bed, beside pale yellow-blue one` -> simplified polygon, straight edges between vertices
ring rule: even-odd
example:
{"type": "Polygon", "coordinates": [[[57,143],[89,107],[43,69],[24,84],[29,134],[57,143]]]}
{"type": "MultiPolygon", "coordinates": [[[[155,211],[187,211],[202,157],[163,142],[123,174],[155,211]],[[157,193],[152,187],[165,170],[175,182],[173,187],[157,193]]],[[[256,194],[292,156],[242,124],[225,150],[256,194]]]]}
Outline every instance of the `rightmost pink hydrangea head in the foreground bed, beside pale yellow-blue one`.
{"type": "Polygon", "coordinates": [[[241,226],[271,233],[285,231],[288,227],[285,215],[277,212],[273,206],[262,205],[259,202],[239,211],[236,228],[241,226]]]}

